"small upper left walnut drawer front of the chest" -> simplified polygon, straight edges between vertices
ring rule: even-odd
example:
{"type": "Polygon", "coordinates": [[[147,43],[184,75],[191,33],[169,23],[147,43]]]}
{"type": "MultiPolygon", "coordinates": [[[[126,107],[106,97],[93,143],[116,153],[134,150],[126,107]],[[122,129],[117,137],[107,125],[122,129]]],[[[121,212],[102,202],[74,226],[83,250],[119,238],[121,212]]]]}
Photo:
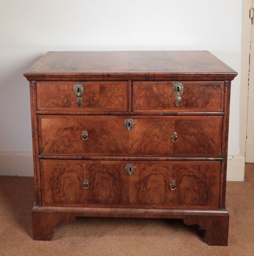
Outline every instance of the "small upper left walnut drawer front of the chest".
{"type": "MultiPolygon", "coordinates": [[[[52,111],[127,111],[127,82],[38,81],[37,108],[52,111]],[[76,106],[75,84],[83,85],[81,107],[76,106]]],[[[81,92],[81,89],[79,89],[81,92]]]]}

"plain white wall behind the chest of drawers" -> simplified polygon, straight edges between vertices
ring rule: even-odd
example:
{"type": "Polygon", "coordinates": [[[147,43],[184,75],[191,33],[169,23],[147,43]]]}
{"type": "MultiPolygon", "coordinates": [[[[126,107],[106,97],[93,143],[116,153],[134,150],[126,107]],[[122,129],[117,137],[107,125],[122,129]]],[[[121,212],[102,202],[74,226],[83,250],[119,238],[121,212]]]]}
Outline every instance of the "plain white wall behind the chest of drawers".
{"type": "MultiPolygon", "coordinates": [[[[241,31],[241,0],[0,0],[0,156],[29,155],[22,73],[47,51],[64,50],[209,50],[238,72],[229,123],[229,154],[237,155],[241,31]]],[[[5,163],[0,175],[33,175],[30,163],[5,163]]]]}

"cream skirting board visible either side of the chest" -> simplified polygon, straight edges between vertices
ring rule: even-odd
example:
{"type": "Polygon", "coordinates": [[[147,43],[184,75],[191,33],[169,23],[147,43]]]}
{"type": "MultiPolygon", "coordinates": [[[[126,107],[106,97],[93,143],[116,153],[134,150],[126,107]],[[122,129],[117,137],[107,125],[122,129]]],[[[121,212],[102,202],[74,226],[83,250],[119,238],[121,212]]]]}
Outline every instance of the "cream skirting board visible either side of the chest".
{"type": "MultiPolygon", "coordinates": [[[[227,181],[243,181],[244,158],[228,156],[227,181]]],[[[33,154],[30,151],[0,151],[0,175],[33,176],[33,154]]]]}

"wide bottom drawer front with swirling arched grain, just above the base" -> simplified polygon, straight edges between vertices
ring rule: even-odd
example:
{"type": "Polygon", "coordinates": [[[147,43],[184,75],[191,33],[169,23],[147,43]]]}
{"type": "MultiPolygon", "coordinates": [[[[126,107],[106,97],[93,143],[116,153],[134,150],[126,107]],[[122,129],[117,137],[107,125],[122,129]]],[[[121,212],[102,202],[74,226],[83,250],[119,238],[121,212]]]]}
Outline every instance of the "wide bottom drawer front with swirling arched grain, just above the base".
{"type": "Polygon", "coordinates": [[[42,205],[218,209],[220,162],[129,163],[41,160],[42,205]]]}

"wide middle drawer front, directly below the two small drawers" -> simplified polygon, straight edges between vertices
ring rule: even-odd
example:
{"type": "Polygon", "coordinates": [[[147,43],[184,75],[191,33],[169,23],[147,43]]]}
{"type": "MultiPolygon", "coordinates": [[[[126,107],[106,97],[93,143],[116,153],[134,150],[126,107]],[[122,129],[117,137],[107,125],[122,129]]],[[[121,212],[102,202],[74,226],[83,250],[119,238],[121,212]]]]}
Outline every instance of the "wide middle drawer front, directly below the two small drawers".
{"type": "Polygon", "coordinates": [[[221,116],[132,116],[130,118],[134,121],[134,127],[131,131],[124,128],[123,123],[127,118],[39,115],[40,154],[221,156],[221,116]],[[81,138],[82,133],[86,140],[81,138]]]}

